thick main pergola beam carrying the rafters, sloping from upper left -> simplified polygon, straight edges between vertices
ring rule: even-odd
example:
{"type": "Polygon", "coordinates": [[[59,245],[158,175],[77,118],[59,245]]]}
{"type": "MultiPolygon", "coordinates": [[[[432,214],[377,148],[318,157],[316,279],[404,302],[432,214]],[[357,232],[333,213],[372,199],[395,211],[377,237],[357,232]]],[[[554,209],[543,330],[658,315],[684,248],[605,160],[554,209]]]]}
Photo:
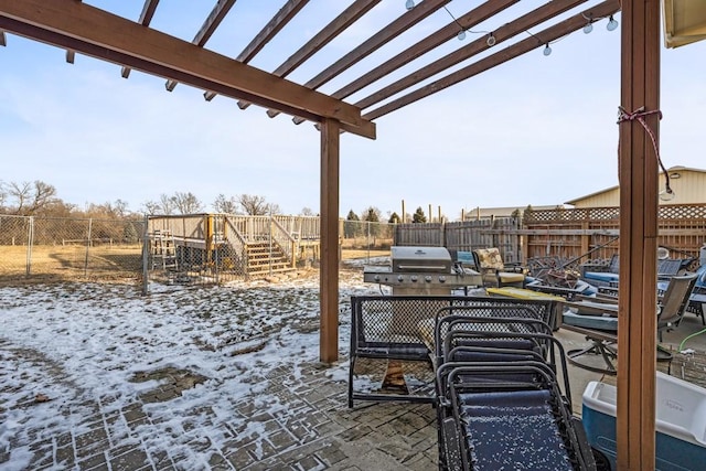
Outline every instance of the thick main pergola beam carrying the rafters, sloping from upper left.
{"type": "Polygon", "coordinates": [[[0,0],[0,30],[375,137],[355,106],[74,0],[0,0]]]}

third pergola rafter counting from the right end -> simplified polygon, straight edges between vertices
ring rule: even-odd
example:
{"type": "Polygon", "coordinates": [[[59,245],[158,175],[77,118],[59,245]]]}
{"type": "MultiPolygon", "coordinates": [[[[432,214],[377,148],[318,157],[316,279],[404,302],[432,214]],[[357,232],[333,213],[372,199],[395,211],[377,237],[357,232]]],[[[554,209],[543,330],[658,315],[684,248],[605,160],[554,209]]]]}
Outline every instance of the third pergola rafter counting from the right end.
{"type": "Polygon", "coordinates": [[[410,63],[417,57],[428,53],[435,47],[443,44],[448,40],[456,38],[459,33],[459,29],[463,28],[466,30],[470,30],[477,24],[488,20],[494,14],[500,13],[505,10],[507,7],[517,3],[520,0],[490,0],[485,3],[481,4],[478,8],[469,11],[464,15],[460,17],[456,21],[451,21],[446,26],[436,31],[434,34],[428,35],[424,40],[418,43],[407,47],[393,58],[386,61],[384,64],[373,68],[366,74],[361,75],[355,81],[351,82],[343,88],[339,89],[331,96],[335,98],[343,99],[355,92],[366,87],[367,85],[374,83],[383,78],[384,76],[391,74],[392,72],[398,69],[399,67],[410,63]]]}

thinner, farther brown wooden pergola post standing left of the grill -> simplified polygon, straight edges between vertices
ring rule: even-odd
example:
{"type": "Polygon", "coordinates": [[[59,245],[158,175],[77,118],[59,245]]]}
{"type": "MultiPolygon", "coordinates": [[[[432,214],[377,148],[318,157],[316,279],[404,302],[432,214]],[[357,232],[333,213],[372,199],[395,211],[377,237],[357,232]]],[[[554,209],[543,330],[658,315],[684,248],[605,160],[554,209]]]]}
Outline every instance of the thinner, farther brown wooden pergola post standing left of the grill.
{"type": "Polygon", "coordinates": [[[339,360],[339,143],[340,125],[321,121],[320,360],[339,360]]]}

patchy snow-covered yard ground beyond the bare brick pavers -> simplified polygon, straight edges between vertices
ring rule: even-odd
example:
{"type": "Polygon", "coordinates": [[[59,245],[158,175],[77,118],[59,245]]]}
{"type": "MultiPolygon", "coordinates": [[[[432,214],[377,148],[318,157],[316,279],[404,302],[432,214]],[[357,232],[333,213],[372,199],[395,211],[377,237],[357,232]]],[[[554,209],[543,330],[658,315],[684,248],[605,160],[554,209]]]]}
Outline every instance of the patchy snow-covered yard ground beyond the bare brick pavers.
{"type": "MultiPolygon", "coordinates": [[[[379,293],[362,279],[360,268],[341,272],[344,360],[349,297],[379,293]]],[[[96,447],[139,443],[148,469],[160,468],[150,450],[170,450],[170,462],[184,469],[207,469],[212,451],[233,438],[223,432],[224,422],[243,433],[261,427],[234,417],[244,397],[287,414],[287,405],[266,394],[268,377],[287,368],[296,386],[300,364],[318,360],[318,295],[315,275],[220,288],[153,285],[147,297],[119,285],[0,288],[0,469],[89,469],[88,458],[96,469],[110,463],[96,450],[76,464],[76,437],[95,432],[94,417],[105,430],[105,437],[90,436],[96,447]],[[182,382],[171,389],[169,372],[182,382]],[[160,398],[160,392],[167,395],[160,398]],[[149,426],[126,424],[136,402],[149,426]],[[197,414],[206,408],[210,414],[197,414]],[[114,411],[122,419],[111,420],[114,411]]],[[[341,363],[327,375],[345,381],[346,372],[341,363]]]]}

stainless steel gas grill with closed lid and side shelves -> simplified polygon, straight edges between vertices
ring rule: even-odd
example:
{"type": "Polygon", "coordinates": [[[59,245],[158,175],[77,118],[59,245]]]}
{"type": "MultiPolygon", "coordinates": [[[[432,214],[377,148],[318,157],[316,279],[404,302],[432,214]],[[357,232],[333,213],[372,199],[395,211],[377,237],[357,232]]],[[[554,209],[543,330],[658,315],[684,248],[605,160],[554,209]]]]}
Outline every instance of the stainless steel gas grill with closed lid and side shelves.
{"type": "Polygon", "coordinates": [[[392,247],[391,265],[367,266],[363,280],[391,286],[393,295],[450,295],[483,285],[481,275],[451,258],[446,247],[392,247]]]}

